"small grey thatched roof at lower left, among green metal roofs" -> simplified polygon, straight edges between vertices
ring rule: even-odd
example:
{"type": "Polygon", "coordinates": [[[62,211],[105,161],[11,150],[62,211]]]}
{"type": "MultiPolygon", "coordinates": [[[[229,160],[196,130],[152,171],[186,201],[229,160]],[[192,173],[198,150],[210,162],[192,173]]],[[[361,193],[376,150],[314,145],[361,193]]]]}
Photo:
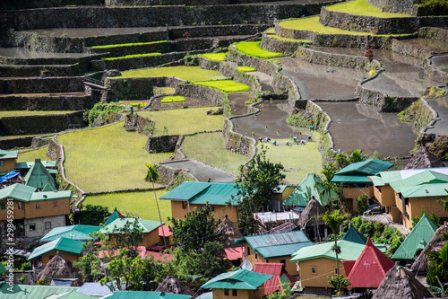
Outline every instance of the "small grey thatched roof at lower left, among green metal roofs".
{"type": "Polygon", "coordinates": [[[50,259],[47,266],[39,273],[38,280],[47,279],[48,281],[54,278],[78,278],[77,281],[73,283],[73,286],[81,286],[82,277],[78,271],[73,268],[72,262],[61,255],[59,251],[56,255],[50,259]]]}

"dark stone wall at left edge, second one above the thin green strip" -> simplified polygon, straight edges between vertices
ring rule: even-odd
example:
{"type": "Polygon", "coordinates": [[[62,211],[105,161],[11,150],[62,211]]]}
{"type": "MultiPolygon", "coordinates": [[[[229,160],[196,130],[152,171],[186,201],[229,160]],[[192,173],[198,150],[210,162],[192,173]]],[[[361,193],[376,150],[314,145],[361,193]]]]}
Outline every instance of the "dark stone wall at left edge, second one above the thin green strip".
{"type": "Polygon", "coordinates": [[[0,78],[0,92],[54,93],[84,92],[82,77],[0,78]]]}

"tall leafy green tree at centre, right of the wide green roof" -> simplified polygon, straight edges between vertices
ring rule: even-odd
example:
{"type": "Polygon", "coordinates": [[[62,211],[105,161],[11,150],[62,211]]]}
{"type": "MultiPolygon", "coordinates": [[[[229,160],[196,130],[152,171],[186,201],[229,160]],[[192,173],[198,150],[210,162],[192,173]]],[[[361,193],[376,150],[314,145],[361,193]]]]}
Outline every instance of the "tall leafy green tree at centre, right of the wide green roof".
{"type": "Polygon", "coordinates": [[[285,178],[281,173],[281,163],[271,163],[266,159],[266,149],[255,154],[249,163],[240,166],[237,197],[241,198],[238,207],[238,224],[245,227],[246,233],[252,230],[254,213],[267,211],[273,190],[285,178]]]}

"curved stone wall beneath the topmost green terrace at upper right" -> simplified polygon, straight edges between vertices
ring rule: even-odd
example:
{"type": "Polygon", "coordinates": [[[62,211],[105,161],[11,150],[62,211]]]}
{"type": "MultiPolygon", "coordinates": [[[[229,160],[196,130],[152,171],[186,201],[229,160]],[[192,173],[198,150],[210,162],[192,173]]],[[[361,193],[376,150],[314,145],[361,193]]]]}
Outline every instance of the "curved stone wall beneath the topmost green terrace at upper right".
{"type": "Polygon", "coordinates": [[[378,18],[329,11],[322,7],[319,22],[324,26],[344,31],[371,32],[374,34],[406,34],[418,31],[419,20],[416,17],[378,18]]]}

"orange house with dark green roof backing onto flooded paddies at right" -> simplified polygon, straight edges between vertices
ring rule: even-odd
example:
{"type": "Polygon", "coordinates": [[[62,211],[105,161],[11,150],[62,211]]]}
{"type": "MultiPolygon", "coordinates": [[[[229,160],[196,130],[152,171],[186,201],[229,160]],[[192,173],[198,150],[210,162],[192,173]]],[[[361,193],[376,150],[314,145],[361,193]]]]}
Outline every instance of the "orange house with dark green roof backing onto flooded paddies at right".
{"type": "Polygon", "coordinates": [[[374,197],[374,185],[368,176],[375,175],[380,171],[386,171],[392,166],[393,163],[370,159],[351,163],[334,174],[332,183],[342,186],[343,196],[349,213],[358,212],[358,203],[355,198],[364,194],[368,198],[374,197]]]}

